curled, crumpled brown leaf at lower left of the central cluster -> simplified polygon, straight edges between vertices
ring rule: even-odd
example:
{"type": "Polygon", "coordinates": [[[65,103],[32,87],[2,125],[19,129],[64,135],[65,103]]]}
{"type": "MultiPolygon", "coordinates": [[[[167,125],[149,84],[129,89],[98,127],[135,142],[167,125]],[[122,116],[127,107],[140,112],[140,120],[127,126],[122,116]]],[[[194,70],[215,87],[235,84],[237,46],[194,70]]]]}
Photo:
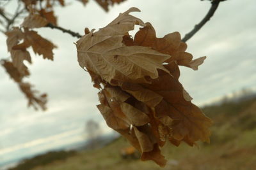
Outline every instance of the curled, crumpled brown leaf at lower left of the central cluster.
{"type": "Polygon", "coordinates": [[[149,124],[152,120],[147,106],[118,87],[106,87],[99,92],[99,99],[101,104],[97,107],[108,126],[127,138],[142,153],[142,160],[154,160],[164,166],[166,160],[160,153],[152,124],[149,124]]]}

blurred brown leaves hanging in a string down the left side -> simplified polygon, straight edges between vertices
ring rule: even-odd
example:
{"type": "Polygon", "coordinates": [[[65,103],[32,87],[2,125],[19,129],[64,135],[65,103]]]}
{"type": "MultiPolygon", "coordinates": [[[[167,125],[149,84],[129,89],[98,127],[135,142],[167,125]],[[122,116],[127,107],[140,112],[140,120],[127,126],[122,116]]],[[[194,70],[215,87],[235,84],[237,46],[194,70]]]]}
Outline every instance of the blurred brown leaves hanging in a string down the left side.
{"type": "MultiPolygon", "coordinates": [[[[24,1],[24,3],[30,3],[31,5],[36,2],[24,1]]],[[[24,76],[29,76],[28,67],[24,64],[24,60],[31,64],[31,55],[28,52],[29,46],[33,48],[36,54],[42,55],[44,59],[53,60],[52,50],[56,46],[51,41],[37,34],[36,31],[31,30],[33,28],[44,27],[47,23],[47,19],[31,12],[28,17],[24,18],[21,28],[13,27],[12,30],[6,32],[6,44],[8,52],[11,54],[12,62],[8,60],[1,61],[6,72],[18,83],[20,90],[28,99],[28,106],[33,106],[36,110],[38,106],[42,110],[46,110],[47,95],[42,94],[37,96],[37,91],[31,89],[32,85],[22,81],[24,76]]]]}

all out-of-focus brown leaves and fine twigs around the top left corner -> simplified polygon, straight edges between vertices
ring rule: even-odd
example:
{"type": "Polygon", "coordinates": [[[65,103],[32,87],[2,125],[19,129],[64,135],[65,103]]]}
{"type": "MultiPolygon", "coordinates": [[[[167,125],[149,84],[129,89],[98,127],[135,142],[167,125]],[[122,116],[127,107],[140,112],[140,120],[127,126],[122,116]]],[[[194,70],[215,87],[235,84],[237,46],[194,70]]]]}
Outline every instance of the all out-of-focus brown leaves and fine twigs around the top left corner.
{"type": "MultiPolygon", "coordinates": [[[[108,11],[109,5],[121,3],[124,0],[95,0],[105,11],[108,11]]],[[[88,3],[88,0],[81,0],[83,4],[88,3]]],[[[57,25],[57,17],[54,15],[54,6],[65,6],[65,0],[22,0],[25,10],[20,10],[15,13],[13,18],[8,18],[4,15],[4,9],[0,9],[1,15],[6,19],[6,29],[9,30],[10,25],[15,22],[15,19],[20,13],[25,11],[28,17],[24,18],[20,27],[13,27],[11,30],[5,32],[7,36],[6,44],[8,52],[11,54],[11,60],[1,60],[1,65],[10,74],[11,78],[18,83],[20,90],[28,98],[28,105],[33,106],[35,109],[46,109],[47,95],[38,95],[38,91],[32,90],[32,85],[24,82],[23,78],[29,76],[28,67],[24,64],[26,60],[31,64],[31,55],[28,51],[29,47],[33,51],[42,55],[44,59],[53,60],[52,49],[56,48],[51,41],[40,36],[35,28],[45,27],[48,24],[57,25]]],[[[20,6],[20,4],[18,5],[20,6]]]]}

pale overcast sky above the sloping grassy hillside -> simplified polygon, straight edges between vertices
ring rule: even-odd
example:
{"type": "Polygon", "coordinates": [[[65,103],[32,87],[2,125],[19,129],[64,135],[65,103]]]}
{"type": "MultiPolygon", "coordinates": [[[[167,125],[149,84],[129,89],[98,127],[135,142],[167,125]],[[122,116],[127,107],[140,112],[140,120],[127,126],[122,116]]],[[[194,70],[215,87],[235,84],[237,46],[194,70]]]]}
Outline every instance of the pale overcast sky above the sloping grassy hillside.
{"type": "MultiPolygon", "coordinates": [[[[211,4],[199,0],[127,0],[106,13],[90,1],[70,3],[56,8],[61,27],[84,34],[84,27],[99,29],[135,6],[141,13],[131,13],[150,22],[157,36],[179,31],[182,36],[205,16],[211,4]],[[147,3],[145,3],[147,2],[147,3]]],[[[181,68],[180,81],[194,98],[193,103],[205,104],[225,94],[256,87],[256,1],[228,0],[220,4],[214,17],[188,41],[193,56],[207,56],[198,71],[181,68]]],[[[47,111],[27,108],[27,100],[8,74],[0,67],[0,162],[13,159],[24,152],[41,152],[56,146],[84,139],[84,124],[92,118],[106,127],[99,111],[97,89],[90,76],[77,62],[73,38],[58,30],[37,29],[39,34],[55,43],[54,62],[33,55],[28,65],[31,76],[26,79],[40,92],[47,92],[47,111]]],[[[1,34],[0,54],[10,56],[1,34]]],[[[26,155],[26,154],[25,154],[26,155]]]]}

